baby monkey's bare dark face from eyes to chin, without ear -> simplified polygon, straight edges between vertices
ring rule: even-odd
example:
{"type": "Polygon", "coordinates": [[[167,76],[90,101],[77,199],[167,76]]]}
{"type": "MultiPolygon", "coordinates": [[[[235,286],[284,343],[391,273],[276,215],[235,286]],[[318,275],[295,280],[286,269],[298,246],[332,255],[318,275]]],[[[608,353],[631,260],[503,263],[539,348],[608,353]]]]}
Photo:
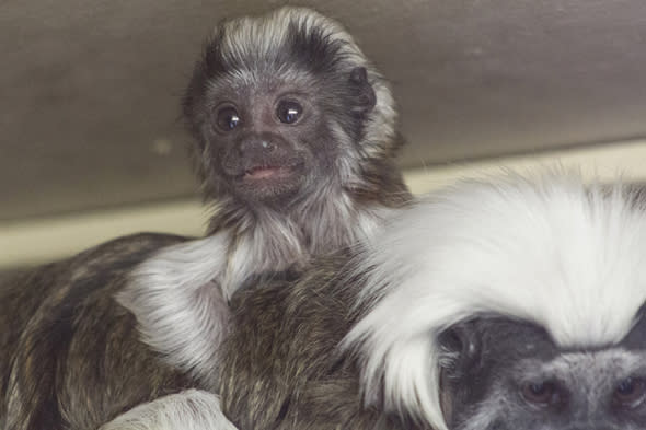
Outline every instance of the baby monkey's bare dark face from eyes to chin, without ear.
{"type": "Polygon", "coordinates": [[[209,156],[220,179],[252,200],[298,191],[312,168],[307,142],[316,114],[300,94],[250,94],[219,103],[209,118],[209,156]]]}

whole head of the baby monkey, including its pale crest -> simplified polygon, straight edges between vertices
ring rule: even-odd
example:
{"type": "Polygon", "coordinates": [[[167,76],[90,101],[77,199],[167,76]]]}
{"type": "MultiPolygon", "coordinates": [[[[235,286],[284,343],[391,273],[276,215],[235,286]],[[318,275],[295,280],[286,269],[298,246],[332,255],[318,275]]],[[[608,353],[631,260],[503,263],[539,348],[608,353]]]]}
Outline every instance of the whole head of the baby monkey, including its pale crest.
{"type": "Polygon", "coordinates": [[[337,23],[302,8],[218,25],[184,114],[210,200],[284,206],[353,187],[397,146],[379,72],[337,23]]]}

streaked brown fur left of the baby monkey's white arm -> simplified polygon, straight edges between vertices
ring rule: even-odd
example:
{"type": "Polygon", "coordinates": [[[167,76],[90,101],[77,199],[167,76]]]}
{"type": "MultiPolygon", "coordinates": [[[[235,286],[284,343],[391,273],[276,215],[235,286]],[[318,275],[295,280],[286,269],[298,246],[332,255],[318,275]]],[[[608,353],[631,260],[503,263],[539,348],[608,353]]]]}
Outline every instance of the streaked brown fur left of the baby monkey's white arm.
{"type": "Polygon", "coordinates": [[[139,340],[113,294],[176,236],[137,235],[44,266],[0,290],[0,417],[11,430],[95,429],[194,384],[139,340]]]}

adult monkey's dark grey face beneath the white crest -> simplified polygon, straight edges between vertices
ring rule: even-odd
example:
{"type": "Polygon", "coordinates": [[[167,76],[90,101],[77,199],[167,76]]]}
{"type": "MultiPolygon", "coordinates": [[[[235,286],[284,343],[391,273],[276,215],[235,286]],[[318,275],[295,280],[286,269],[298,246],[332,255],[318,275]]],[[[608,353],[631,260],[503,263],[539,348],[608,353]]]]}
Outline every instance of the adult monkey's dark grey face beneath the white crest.
{"type": "Polygon", "coordinates": [[[531,324],[482,318],[447,332],[443,408],[452,430],[646,428],[646,324],[598,350],[558,349],[531,324]]]}

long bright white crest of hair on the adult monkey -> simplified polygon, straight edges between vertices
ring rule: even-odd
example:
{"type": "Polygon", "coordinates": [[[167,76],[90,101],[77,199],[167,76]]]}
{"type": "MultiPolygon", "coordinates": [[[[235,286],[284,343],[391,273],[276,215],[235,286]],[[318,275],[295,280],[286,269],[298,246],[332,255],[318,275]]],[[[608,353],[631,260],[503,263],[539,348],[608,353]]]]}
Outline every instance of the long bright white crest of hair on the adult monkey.
{"type": "Polygon", "coordinates": [[[464,182],[377,234],[359,270],[369,309],[344,348],[359,352],[367,402],[383,395],[446,430],[436,336],[481,313],[545,327],[561,346],[621,340],[646,300],[644,204],[621,185],[547,172],[464,182]]]}

